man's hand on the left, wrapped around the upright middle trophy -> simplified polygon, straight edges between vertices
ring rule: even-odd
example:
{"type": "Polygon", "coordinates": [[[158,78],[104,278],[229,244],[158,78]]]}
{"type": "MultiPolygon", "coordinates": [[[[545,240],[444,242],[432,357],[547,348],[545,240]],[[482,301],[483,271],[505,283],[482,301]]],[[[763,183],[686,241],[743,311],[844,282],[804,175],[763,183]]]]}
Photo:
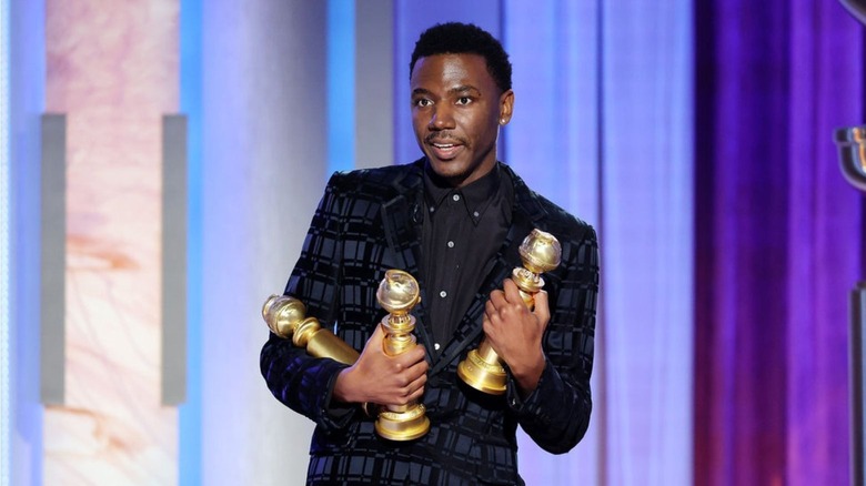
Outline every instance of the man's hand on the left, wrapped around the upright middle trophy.
{"type": "Polygon", "coordinates": [[[345,403],[405,405],[421,397],[427,382],[424,347],[419,345],[396,356],[382,347],[384,331],[375,332],[364,345],[354,365],[340,372],[334,398],[345,403]]]}

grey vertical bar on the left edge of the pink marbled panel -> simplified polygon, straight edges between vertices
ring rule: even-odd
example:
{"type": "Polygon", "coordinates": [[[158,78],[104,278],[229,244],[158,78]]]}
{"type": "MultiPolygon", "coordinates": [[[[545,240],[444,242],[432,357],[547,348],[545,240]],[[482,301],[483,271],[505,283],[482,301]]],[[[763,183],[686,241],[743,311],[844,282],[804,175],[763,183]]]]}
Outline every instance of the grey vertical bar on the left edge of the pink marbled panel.
{"type": "Polygon", "coordinates": [[[67,117],[42,115],[40,395],[62,405],[66,383],[67,117]]]}

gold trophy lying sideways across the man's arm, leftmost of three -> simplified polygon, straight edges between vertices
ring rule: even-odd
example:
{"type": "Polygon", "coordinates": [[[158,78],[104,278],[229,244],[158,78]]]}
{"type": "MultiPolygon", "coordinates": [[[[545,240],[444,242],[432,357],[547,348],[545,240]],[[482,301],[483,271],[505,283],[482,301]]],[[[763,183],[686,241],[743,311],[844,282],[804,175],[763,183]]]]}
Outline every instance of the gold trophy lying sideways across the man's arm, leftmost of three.
{"type": "Polygon", "coordinates": [[[354,364],[359,353],[330,330],[322,328],[315,317],[306,317],[303,302],[289,295],[271,295],[262,306],[268,327],[280,337],[291,338],[311,356],[330,357],[344,364],[354,364]]]}

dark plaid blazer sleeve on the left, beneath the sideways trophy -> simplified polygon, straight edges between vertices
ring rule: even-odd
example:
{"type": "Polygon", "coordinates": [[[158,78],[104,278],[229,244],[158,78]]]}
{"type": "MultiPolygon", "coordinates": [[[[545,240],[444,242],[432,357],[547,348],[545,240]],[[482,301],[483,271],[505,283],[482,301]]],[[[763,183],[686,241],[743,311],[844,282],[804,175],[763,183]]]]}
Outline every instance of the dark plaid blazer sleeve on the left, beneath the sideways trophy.
{"type": "MultiPolygon", "coordinates": [[[[285,295],[301,300],[306,315],[318,318],[323,327],[335,322],[339,308],[343,206],[339,180],[343,176],[335,173],[329,181],[285,287],[285,295]]],[[[270,333],[261,351],[260,366],[274,397],[325,432],[342,429],[351,422],[356,407],[331,404],[336,376],[348,367],[345,364],[312,357],[291,340],[270,333]]]]}

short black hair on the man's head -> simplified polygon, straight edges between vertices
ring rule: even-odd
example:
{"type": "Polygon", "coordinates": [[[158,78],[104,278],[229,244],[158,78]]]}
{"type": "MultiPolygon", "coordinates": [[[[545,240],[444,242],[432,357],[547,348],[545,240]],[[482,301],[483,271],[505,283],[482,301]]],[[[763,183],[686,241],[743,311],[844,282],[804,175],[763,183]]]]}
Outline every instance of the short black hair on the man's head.
{"type": "Polygon", "coordinates": [[[479,54],[487,63],[487,72],[502,92],[511,89],[511,62],[496,38],[473,23],[437,23],[421,33],[412,51],[409,75],[421,58],[436,54],[479,54]]]}

